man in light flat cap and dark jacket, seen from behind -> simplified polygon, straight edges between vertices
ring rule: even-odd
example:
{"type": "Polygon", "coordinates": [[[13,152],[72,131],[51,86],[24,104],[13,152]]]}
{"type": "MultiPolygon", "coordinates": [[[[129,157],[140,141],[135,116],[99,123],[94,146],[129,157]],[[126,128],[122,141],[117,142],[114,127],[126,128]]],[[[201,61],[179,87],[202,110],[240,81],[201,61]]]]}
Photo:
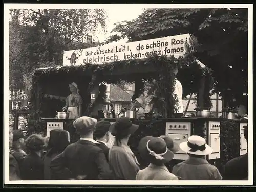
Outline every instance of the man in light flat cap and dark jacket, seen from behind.
{"type": "Polygon", "coordinates": [[[80,140],[70,144],[62,154],[52,160],[51,171],[56,174],[67,168],[71,173],[70,178],[77,180],[112,180],[112,171],[104,152],[98,146],[99,143],[93,140],[97,120],[83,116],[77,118],[73,124],[80,140]]]}

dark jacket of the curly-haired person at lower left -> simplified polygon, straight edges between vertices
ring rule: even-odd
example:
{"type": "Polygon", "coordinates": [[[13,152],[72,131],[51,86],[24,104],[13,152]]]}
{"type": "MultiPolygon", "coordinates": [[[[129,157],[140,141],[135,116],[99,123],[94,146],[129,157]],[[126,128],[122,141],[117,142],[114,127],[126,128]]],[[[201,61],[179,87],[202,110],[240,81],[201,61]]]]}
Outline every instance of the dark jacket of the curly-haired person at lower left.
{"type": "Polygon", "coordinates": [[[44,161],[32,152],[24,158],[20,171],[23,180],[44,180],[44,161]]]}

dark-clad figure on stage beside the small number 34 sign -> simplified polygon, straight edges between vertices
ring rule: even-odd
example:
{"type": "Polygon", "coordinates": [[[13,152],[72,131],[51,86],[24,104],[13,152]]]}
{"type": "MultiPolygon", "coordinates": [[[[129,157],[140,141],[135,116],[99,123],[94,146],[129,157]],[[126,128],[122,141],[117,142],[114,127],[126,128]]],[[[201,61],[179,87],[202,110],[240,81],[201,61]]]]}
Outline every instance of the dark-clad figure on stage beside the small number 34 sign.
{"type": "Polygon", "coordinates": [[[106,113],[108,112],[108,109],[107,109],[108,105],[110,105],[112,109],[114,107],[112,103],[107,101],[107,96],[106,96],[107,88],[108,87],[104,84],[99,85],[99,94],[92,105],[92,112],[91,112],[91,116],[96,119],[106,118],[106,113]]]}

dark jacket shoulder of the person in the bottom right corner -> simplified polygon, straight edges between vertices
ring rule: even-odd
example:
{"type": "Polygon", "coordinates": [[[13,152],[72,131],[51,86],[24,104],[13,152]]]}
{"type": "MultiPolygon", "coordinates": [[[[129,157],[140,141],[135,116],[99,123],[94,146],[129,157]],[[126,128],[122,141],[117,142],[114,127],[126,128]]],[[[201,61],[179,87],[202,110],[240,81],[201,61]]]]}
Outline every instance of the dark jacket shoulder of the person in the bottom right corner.
{"type": "Polygon", "coordinates": [[[226,163],[223,180],[248,180],[248,153],[226,163]]]}

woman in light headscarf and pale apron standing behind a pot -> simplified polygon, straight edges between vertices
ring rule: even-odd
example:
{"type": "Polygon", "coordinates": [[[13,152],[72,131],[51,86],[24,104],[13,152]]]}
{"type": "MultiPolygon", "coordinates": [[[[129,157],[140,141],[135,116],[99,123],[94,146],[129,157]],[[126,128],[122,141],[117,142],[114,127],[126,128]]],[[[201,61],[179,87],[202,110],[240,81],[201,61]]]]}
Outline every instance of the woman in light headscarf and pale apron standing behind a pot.
{"type": "Polygon", "coordinates": [[[82,114],[82,97],[78,93],[78,86],[76,83],[69,84],[71,94],[66,99],[66,105],[63,110],[70,111],[69,119],[77,119],[82,114]]]}

